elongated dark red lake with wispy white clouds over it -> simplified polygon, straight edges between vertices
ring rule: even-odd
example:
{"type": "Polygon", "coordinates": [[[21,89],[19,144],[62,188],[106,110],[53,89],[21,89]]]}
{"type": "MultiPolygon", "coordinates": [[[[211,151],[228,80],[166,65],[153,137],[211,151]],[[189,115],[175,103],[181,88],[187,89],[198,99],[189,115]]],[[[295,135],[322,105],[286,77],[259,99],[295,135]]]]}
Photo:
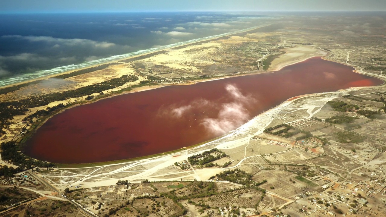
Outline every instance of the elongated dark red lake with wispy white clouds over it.
{"type": "Polygon", "coordinates": [[[167,86],[74,107],[42,125],[28,156],[91,163],[172,151],[226,134],[288,98],[383,81],[315,57],[275,73],[167,86]]]}

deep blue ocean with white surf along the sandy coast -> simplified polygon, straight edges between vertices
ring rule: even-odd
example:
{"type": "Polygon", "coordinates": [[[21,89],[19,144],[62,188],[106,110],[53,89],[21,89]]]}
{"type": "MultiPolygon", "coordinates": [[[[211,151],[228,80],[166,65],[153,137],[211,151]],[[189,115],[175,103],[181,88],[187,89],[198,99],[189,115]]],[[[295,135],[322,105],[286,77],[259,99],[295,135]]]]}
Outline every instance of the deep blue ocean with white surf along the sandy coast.
{"type": "Polygon", "coordinates": [[[266,24],[220,12],[0,14],[0,86],[266,24]]]}

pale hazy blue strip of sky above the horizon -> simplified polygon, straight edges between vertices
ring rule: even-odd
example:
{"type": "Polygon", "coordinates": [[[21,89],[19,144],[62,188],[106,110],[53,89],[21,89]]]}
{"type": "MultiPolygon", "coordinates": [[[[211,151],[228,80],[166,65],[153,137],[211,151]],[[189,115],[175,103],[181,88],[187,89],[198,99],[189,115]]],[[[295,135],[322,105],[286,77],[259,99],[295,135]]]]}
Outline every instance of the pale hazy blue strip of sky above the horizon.
{"type": "Polygon", "coordinates": [[[1,0],[0,13],[386,11],[385,0],[1,0]]]}

